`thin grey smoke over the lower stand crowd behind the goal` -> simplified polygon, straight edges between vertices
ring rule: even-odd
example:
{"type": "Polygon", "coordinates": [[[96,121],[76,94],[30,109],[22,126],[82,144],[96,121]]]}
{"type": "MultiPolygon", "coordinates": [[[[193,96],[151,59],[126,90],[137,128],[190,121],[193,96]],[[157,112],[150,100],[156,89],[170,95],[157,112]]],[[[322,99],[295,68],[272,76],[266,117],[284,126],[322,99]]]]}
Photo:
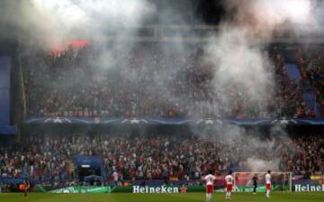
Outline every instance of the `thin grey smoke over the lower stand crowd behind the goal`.
{"type": "Polygon", "coordinates": [[[294,153],[304,152],[280,125],[275,125],[267,134],[259,129],[246,130],[228,124],[207,128],[193,132],[202,135],[202,139],[207,142],[216,142],[216,148],[221,148],[221,161],[225,165],[235,165],[240,171],[286,170],[283,153],[289,153],[289,158],[293,159],[294,153]]]}

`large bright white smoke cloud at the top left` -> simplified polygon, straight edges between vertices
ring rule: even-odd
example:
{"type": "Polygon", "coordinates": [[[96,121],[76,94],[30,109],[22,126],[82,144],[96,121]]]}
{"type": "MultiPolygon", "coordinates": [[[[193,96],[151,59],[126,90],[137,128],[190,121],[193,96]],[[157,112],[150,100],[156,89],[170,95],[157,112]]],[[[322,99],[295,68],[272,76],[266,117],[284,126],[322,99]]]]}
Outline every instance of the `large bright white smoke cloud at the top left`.
{"type": "Polygon", "coordinates": [[[99,41],[110,32],[124,35],[155,11],[146,0],[26,0],[3,4],[1,15],[21,31],[21,41],[39,41],[43,46],[77,38],[99,41]]]}

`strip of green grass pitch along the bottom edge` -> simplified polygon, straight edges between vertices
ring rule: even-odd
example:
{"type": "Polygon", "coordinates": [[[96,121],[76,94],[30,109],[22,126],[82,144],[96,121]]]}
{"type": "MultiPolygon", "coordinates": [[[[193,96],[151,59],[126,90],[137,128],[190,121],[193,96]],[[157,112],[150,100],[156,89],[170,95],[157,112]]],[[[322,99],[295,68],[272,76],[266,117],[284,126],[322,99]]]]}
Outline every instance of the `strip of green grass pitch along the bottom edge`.
{"type": "MultiPolygon", "coordinates": [[[[184,194],[40,194],[31,193],[23,197],[23,193],[0,193],[1,202],[195,202],[205,201],[204,193],[184,194]]],[[[217,193],[212,197],[212,202],[226,201],[224,194],[217,193]]],[[[324,193],[273,193],[271,198],[258,193],[234,193],[230,202],[324,202],[324,193]]]]}

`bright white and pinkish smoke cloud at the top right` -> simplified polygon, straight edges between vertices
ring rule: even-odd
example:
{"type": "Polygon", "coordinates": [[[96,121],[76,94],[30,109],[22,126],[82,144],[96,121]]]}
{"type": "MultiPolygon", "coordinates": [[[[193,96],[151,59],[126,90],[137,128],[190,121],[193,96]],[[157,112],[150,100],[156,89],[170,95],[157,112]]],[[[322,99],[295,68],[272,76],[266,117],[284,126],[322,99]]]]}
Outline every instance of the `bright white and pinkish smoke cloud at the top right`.
{"type": "Polygon", "coordinates": [[[224,5],[234,13],[235,26],[252,35],[271,37],[283,24],[286,29],[310,29],[316,24],[311,0],[227,0],[224,5]]]}

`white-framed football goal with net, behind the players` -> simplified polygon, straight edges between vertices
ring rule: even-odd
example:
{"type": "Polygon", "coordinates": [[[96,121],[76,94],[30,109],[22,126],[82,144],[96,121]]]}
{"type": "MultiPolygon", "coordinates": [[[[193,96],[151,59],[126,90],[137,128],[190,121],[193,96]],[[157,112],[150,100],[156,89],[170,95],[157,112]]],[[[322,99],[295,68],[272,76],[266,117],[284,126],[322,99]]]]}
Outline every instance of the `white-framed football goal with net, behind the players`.
{"type": "MultiPolygon", "coordinates": [[[[253,191],[253,177],[257,175],[257,192],[266,192],[266,172],[235,172],[233,174],[235,191],[253,191]]],[[[272,190],[292,191],[292,178],[291,172],[272,172],[272,190]]]]}

